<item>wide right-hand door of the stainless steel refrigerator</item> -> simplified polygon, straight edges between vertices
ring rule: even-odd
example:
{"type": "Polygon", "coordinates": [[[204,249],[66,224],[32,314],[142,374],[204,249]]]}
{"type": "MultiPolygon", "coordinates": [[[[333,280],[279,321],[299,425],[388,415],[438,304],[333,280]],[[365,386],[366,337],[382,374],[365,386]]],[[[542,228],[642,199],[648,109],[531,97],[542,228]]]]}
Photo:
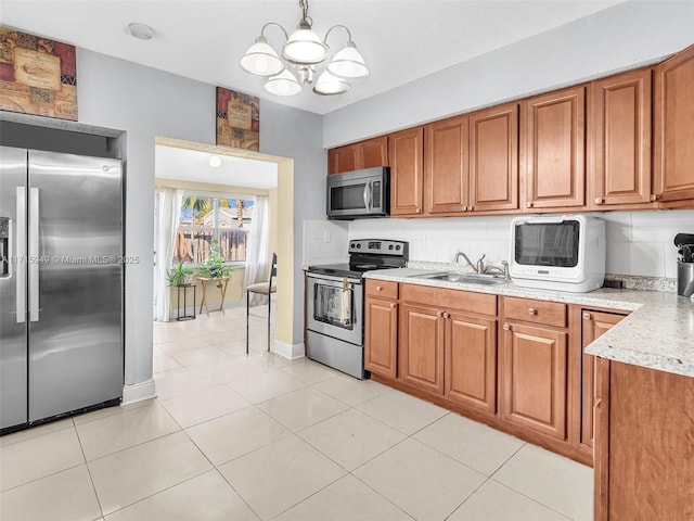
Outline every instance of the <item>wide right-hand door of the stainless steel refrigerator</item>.
{"type": "Polygon", "coordinates": [[[119,161],[29,151],[28,171],[35,421],[123,394],[123,201],[119,161]]]}

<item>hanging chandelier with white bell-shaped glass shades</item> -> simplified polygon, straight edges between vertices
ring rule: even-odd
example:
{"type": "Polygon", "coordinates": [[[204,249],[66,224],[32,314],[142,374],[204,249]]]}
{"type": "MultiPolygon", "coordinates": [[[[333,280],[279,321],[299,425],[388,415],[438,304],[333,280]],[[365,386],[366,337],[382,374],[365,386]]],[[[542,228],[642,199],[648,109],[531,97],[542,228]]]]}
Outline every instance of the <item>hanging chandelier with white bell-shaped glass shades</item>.
{"type": "Polygon", "coordinates": [[[301,20],[292,33],[275,22],[268,22],[260,29],[260,36],[248,48],[241,59],[241,68],[256,76],[266,77],[265,90],[274,96],[295,96],[301,92],[303,85],[312,85],[317,66],[330,58],[327,37],[333,29],[344,29],[347,33],[347,43],[330,61],[326,69],[321,73],[313,85],[313,92],[322,96],[342,94],[350,89],[348,79],[363,78],[369,75],[364,59],[351,41],[351,33],[344,25],[334,25],[323,40],[313,33],[313,20],[308,15],[308,0],[299,0],[301,20]],[[282,59],[270,46],[265,37],[265,29],[269,26],[279,27],[284,34],[282,59]],[[295,73],[296,71],[298,78],[295,73]]]}

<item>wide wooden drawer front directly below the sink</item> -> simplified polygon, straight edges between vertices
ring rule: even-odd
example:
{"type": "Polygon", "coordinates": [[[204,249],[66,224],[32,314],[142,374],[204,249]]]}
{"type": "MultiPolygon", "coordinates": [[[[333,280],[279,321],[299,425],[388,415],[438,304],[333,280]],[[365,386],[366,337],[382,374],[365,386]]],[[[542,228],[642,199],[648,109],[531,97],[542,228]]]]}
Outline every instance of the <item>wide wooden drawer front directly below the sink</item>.
{"type": "Polygon", "coordinates": [[[447,312],[460,310],[497,316],[497,295],[419,284],[402,284],[401,292],[406,302],[425,304],[447,312]]]}

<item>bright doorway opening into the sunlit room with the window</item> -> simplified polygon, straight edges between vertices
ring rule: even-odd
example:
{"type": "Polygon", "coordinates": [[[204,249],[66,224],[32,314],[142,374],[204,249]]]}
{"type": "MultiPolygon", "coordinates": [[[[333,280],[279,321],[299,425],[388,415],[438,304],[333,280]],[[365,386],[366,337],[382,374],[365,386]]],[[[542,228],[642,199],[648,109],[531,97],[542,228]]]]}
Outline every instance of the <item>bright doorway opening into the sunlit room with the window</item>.
{"type": "MultiPolygon", "coordinates": [[[[154,372],[245,353],[244,288],[267,280],[273,253],[271,351],[284,354],[293,335],[293,160],[169,138],[155,144],[154,372]],[[200,269],[210,250],[232,270],[206,281],[200,269]],[[170,288],[167,275],[179,263],[191,268],[191,285],[170,288]],[[191,336],[200,340],[197,354],[185,342],[191,336]]],[[[252,306],[267,317],[267,300],[252,306]]],[[[267,350],[267,318],[249,323],[252,348],[267,350]]]]}

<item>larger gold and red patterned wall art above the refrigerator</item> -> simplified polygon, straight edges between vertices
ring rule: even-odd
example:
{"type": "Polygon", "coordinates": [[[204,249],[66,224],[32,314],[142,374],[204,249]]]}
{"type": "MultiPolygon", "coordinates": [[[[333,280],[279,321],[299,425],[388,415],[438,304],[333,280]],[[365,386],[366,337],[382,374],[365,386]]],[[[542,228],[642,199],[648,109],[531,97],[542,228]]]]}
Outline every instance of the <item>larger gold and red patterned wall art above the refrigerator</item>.
{"type": "Polygon", "coordinates": [[[75,46],[0,27],[0,110],[76,122],[75,46]]]}

